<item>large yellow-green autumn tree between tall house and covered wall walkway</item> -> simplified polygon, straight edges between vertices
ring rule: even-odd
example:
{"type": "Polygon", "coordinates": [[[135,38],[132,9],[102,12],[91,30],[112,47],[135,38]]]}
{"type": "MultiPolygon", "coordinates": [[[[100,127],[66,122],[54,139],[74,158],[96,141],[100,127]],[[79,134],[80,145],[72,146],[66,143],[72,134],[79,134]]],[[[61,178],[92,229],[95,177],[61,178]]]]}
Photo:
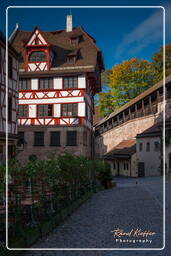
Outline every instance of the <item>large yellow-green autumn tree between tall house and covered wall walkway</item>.
{"type": "Polygon", "coordinates": [[[109,90],[99,95],[99,109],[108,115],[153,85],[155,72],[152,63],[132,58],[115,65],[105,74],[109,90]]]}

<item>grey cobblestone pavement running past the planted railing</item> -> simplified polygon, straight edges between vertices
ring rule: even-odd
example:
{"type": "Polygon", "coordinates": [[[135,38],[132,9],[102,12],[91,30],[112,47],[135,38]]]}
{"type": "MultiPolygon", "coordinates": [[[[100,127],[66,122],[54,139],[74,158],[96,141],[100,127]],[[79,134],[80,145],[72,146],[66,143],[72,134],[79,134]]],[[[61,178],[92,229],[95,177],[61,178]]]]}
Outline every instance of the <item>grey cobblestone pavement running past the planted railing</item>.
{"type": "MultiPolygon", "coordinates": [[[[162,177],[115,178],[117,187],[98,192],[34,248],[161,248],[162,177]],[[156,232],[152,243],[119,243],[111,230],[156,232]]],[[[25,256],[171,256],[171,180],[166,181],[166,248],[157,251],[30,251],[25,256]]],[[[125,237],[124,237],[125,238],[125,237]]],[[[141,237],[142,238],[142,237],[141,237]]]]}

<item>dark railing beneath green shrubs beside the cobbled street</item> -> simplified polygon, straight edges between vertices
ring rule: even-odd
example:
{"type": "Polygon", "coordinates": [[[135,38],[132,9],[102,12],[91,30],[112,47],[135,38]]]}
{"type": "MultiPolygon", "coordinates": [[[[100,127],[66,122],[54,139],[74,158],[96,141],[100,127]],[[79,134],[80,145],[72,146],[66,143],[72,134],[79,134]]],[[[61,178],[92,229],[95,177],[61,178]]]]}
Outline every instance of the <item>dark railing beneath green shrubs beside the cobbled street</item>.
{"type": "MultiPolygon", "coordinates": [[[[9,186],[8,234],[9,240],[28,227],[39,225],[48,217],[59,213],[65,207],[95,188],[95,182],[47,186],[13,184],[9,186]]],[[[0,240],[5,242],[5,206],[0,208],[0,240]]],[[[3,254],[0,254],[3,255],[3,254]]]]}

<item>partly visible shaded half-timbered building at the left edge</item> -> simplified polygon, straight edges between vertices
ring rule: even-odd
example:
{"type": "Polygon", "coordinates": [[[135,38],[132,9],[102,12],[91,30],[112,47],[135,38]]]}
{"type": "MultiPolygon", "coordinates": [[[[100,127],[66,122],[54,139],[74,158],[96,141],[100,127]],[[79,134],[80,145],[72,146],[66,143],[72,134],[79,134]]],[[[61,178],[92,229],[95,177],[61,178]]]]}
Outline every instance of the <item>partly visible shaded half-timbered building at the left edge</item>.
{"type": "Polygon", "coordinates": [[[6,104],[6,39],[0,32],[0,161],[6,156],[8,129],[8,158],[15,155],[17,143],[18,53],[8,45],[8,102],[6,104]],[[6,108],[8,107],[8,120],[6,108]],[[6,121],[8,126],[6,127],[6,121]]]}

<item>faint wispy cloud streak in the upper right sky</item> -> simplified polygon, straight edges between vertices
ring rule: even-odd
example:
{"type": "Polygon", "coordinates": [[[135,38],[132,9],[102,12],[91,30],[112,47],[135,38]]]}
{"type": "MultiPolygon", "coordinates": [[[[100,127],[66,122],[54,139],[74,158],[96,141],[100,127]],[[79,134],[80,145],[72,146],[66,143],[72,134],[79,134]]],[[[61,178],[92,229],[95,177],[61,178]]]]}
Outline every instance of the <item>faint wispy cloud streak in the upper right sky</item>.
{"type": "MultiPolygon", "coordinates": [[[[166,7],[166,28],[170,29],[171,5],[166,7]]],[[[166,31],[167,32],[167,31],[166,31]]],[[[166,33],[167,34],[167,33],[166,33]]],[[[157,9],[150,17],[138,24],[135,29],[125,35],[116,49],[115,59],[139,53],[150,44],[163,37],[163,9],[157,9]]]]}

